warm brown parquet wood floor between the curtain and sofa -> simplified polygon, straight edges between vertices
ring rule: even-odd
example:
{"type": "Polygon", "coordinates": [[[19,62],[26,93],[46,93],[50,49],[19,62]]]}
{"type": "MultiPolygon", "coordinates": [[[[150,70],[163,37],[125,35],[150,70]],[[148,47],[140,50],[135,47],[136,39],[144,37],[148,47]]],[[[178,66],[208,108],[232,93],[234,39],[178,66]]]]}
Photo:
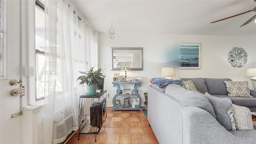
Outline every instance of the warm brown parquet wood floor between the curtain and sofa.
{"type": "Polygon", "coordinates": [[[94,142],[94,134],[78,131],[66,144],[159,144],[148,119],[140,110],[115,110],[107,108],[107,118],[94,142]]]}

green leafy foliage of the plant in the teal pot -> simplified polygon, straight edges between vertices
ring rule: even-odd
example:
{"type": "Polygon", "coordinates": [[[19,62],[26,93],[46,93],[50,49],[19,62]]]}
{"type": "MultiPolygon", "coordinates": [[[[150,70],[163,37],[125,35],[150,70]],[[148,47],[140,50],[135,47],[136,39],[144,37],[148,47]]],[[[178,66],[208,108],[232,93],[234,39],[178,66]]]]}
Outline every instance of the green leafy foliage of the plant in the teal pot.
{"type": "Polygon", "coordinates": [[[103,74],[102,72],[106,68],[104,70],[101,70],[101,68],[99,68],[96,71],[94,71],[93,68],[94,67],[92,67],[89,71],[86,72],[79,71],[81,74],[84,74],[77,78],[77,80],[81,80],[81,82],[79,82],[80,85],[84,86],[85,83],[88,86],[91,86],[92,84],[102,84],[102,77],[105,77],[105,74],[103,74]]]}

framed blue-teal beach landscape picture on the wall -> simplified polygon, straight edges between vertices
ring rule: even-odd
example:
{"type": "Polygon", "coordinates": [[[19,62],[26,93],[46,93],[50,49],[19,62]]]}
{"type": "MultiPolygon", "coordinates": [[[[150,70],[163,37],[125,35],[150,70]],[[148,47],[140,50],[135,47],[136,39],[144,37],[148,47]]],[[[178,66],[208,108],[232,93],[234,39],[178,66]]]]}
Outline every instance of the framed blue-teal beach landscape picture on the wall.
{"type": "Polygon", "coordinates": [[[180,43],[180,69],[201,69],[200,43],[180,43]]]}

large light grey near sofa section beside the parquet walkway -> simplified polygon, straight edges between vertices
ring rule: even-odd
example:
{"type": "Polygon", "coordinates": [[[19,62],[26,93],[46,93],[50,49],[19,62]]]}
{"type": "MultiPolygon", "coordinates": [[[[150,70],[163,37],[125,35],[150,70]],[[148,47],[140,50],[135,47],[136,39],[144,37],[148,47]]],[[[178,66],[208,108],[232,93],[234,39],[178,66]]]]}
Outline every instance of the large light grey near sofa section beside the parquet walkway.
{"type": "Polygon", "coordinates": [[[201,106],[207,99],[197,99],[199,93],[154,85],[148,86],[148,122],[160,144],[256,144],[256,130],[227,130],[201,106]]]}

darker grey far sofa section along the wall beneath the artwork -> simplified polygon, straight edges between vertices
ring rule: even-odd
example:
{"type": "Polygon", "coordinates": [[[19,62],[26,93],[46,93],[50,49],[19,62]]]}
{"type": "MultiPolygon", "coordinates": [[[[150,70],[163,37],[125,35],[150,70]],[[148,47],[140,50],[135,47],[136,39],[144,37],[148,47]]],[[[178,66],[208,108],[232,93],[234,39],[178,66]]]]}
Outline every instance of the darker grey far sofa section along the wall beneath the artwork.
{"type": "Polygon", "coordinates": [[[250,90],[254,98],[228,96],[224,81],[232,81],[230,78],[180,78],[181,85],[183,80],[192,80],[196,89],[203,94],[208,92],[212,96],[229,98],[233,104],[246,106],[251,112],[256,112],[256,90],[250,90]]]}

